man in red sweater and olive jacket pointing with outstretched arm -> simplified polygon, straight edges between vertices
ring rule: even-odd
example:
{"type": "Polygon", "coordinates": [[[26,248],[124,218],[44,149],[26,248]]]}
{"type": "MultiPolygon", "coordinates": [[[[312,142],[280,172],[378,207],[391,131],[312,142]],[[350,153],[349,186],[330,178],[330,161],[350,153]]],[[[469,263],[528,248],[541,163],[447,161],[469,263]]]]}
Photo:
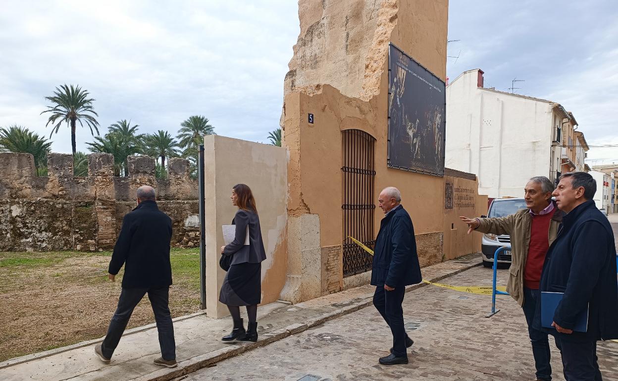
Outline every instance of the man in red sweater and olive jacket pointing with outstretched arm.
{"type": "Polygon", "coordinates": [[[468,234],[476,230],[510,235],[512,259],[507,291],[522,306],[526,316],[537,380],[551,380],[548,335],[534,329],[532,322],[536,314],[536,300],[540,298],[539,283],[545,254],[556,239],[563,216],[551,200],[552,191],[554,185],[547,177],[533,177],[524,189],[527,209],[500,218],[460,217],[468,224],[468,234]]]}

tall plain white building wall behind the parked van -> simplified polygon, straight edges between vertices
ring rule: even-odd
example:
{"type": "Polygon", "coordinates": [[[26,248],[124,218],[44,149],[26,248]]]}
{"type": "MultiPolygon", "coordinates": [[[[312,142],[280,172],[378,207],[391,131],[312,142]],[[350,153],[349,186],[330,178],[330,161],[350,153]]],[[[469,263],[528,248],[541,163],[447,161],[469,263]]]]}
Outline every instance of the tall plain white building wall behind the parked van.
{"type": "Polygon", "coordinates": [[[446,167],[476,174],[489,198],[523,197],[533,176],[561,174],[560,104],[483,88],[483,71],[468,70],[446,88],[446,167]]]}

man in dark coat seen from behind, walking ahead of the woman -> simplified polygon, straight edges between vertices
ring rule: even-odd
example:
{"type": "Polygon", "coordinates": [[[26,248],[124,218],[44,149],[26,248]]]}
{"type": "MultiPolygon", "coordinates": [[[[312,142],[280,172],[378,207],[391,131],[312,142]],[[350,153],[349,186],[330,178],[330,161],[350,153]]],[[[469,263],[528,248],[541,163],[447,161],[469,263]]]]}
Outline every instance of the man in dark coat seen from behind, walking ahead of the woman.
{"type": "Polygon", "coordinates": [[[172,220],[159,211],[155,190],[151,186],[138,188],[137,204],[122,219],[122,229],[109,262],[108,277],[112,282],[116,281],[116,274],[125,265],[122,291],[118,308],[109,323],[108,334],[103,343],[95,346],[95,353],[101,361],[110,361],[133,309],[148,293],[155,312],[162,355],[155,359],[155,364],[176,367],[174,327],[168,307],[169,286],[172,284],[169,262],[172,220]]]}

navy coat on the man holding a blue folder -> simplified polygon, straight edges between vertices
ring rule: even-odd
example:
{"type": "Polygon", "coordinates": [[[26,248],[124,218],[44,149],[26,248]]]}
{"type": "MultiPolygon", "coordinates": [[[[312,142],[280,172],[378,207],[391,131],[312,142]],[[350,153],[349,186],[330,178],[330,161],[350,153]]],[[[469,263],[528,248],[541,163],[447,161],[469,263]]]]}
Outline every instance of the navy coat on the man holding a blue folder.
{"type": "MultiPolygon", "coordinates": [[[[543,328],[540,313],[536,314],[533,323],[536,329],[567,341],[618,338],[614,233],[594,201],[580,204],[562,219],[562,227],[545,258],[540,290],[564,293],[556,308],[554,322],[566,329],[574,327],[575,316],[590,304],[588,330],[565,334],[543,328]]],[[[540,308],[541,298],[538,299],[537,311],[541,311],[540,308]]]]}

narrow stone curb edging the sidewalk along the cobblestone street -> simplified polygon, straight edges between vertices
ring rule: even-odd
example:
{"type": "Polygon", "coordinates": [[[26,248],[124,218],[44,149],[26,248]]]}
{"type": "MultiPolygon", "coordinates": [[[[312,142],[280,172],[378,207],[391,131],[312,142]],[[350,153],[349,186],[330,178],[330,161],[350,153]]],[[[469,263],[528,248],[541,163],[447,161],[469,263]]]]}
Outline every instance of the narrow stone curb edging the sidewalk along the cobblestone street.
{"type": "MultiPolygon", "coordinates": [[[[462,267],[461,269],[453,270],[448,274],[431,278],[430,282],[438,282],[438,280],[451,277],[452,275],[457,275],[461,272],[470,270],[473,267],[478,266],[481,266],[481,262],[473,263],[469,266],[462,267]]],[[[417,290],[418,288],[425,287],[426,285],[427,283],[418,283],[417,285],[411,285],[405,288],[405,292],[407,293],[408,291],[417,290]]],[[[324,324],[324,322],[327,322],[328,320],[337,319],[337,317],[341,317],[350,314],[351,312],[358,311],[359,309],[371,306],[371,304],[373,304],[373,301],[370,297],[368,297],[366,301],[351,304],[349,306],[345,306],[344,308],[327,312],[326,314],[308,320],[304,324],[292,324],[284,329],[264,333],[263,335],[260,335],[260,341],[256,343],[234,346],[234,348],[221,348],[210,353],[201,354],[199,356],[195,356],[193,358],[179,362],[177,368],[161,369],[148,375],[143,375],[142,377],[132,379],[131,381],[170,381],[176,379],[177,377],[196,372],[202,368],[212,367],[219,361],[223,361],[238,356],[239,354],[255,350],[257,348],[260,348],[261,346],[269,345],[270,343],[274,343],[275,341],[279,341],[283,338],[289,337],[290,335],[304,332],[312,327],[324,324]]]]}

